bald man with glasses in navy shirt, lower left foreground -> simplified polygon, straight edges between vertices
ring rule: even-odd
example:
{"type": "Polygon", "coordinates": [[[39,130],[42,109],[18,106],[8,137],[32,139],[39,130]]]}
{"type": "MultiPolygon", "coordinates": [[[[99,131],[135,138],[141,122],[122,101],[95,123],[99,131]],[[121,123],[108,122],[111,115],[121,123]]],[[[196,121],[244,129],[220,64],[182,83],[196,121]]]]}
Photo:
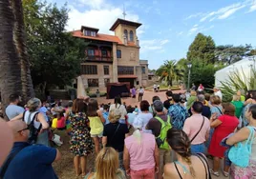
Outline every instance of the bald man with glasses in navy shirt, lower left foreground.
{"type": "Polygon", "coordinates": [[[10,121],[8,126],[12,130],[14,144],[1,168],[0,178],[57,179],[52,164],[60,160],[59,150],[42,145],[30,145],[30,130],[23,121],[10,121]]]}

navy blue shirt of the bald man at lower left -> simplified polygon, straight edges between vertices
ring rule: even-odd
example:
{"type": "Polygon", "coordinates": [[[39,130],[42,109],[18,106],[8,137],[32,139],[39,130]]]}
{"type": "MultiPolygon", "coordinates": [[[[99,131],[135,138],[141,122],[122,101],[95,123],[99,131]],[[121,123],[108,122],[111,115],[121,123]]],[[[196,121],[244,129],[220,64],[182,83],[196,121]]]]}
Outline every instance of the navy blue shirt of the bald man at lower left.
{"type": "MultiPolygon", "coordinates": [[[[15,142],[11,152],[24,148],[24,145],[28,146],[28,143],[15,142]]],[[[52,167],[55,157],[56,149],[42,145],[28,146],[12,159],[4,178],[57,179],[52,167]]]]}

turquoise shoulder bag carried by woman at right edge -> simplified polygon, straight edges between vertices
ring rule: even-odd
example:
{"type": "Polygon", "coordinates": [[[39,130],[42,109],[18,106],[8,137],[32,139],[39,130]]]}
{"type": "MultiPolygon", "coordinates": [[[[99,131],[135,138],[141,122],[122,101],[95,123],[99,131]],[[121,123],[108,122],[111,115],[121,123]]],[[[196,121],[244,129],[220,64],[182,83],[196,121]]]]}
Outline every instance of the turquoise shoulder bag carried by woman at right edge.
{"type": "Polygon", "coordinates": [[[236,146],[233,146],[228,152],[229,160],[236,166],[246,168],[249,165],[249,159],[251,154],[251,145],[254,139],[254,128],[246,127],[250,130],[249,137],[246,142],[239,142],[236,146]]]}

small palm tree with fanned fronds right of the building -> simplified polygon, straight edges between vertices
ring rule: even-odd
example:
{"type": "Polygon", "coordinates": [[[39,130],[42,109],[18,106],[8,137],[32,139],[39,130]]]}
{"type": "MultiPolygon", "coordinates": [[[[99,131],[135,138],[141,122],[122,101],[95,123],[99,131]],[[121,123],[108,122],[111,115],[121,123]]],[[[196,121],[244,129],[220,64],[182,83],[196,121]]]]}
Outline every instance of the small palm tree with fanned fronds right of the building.
{"type": "Polygon", "coordinates": [[[166,60],[164,64],[160,66],[160,69],[156,71],[156,74],[160,76],[160,80],[164,80],[167,85],[172,86],[173,81],[179,81],[183,79],[184,70],[181,66],[177,65],[175,60],[166,60]]]}

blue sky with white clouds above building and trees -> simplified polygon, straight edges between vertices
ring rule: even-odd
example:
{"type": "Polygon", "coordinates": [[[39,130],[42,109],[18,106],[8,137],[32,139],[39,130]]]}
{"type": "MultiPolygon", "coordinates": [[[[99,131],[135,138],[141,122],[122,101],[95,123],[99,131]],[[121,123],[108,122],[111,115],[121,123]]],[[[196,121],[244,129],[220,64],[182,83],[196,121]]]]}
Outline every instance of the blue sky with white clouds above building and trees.
{"type": "Polygon", "coordinates": [[[218,45],[251,44],[256,48],[256,0],[48,0],[58,7],[68,5],[67,30],[89,26],[100,33],[117,20],[142,24],[137,30],[139,59],[157,70],[165,60],[179,60],[195,36],[211,35],[218,45]]]}

